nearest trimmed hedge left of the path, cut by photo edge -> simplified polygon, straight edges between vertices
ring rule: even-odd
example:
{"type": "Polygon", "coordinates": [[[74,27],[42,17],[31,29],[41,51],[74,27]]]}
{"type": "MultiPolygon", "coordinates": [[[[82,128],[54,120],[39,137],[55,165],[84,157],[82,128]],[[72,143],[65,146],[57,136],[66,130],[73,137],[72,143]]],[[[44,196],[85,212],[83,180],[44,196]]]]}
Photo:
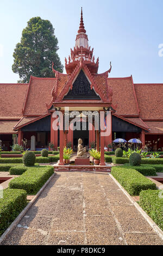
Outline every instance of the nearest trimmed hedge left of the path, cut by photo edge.
{"type": "Polygon", "coordinates": [[[27,205],[27,193],[24,190],[3,190],[0,200],[0,236],[27,205]]]}

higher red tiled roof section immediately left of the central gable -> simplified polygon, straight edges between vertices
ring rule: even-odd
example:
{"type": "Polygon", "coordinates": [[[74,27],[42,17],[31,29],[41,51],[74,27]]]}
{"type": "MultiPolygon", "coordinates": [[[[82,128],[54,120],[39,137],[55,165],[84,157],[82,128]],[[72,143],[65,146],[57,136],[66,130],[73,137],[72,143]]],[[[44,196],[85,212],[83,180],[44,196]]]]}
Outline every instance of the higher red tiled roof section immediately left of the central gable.
{"type": "Polygon", "coordinates": [[[41,115],[47,112],[46,104],[52,100],[56,78],[31,77],[23,115],[41,115]]]}

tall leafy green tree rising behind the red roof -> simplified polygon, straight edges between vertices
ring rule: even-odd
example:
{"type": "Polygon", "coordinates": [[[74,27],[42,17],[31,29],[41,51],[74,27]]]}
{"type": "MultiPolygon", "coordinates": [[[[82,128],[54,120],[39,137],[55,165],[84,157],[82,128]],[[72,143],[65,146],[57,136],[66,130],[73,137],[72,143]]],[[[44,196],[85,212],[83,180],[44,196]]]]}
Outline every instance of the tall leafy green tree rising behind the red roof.
{"type": "Polygon", "coordinates": [[[28,83],[30,75],[36,77],[53,77],[52,62],[55,70],[63,71],[64,66],[58,56],[58,39],[50,21],[33,17],[23,29],[21,42],[13,53],[12,71],[18,73],[21,80],[28,83]]]}

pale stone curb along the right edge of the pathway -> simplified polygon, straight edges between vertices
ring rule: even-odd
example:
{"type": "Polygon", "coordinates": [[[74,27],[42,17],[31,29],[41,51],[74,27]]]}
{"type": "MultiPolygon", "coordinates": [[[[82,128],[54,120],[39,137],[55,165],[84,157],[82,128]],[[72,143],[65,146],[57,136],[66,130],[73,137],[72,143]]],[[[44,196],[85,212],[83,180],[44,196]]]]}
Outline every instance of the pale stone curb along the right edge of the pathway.
{"type": "Polygon", "coordinates": [[[115,181],[115,183],[118,185],[118,187],[121,188],[121,190],[123,191],[124,194],[126,194],[126,196],[128,197],[128,199],[130,200],[130,202],[136,207],[136,209],[140,212],[140,214],[146,219],[146,221],[149,223],[149,225],[151,225],[151,227],[154,229],[154,231],[156,231],[156,233],[158,233],[158,235],[161,237],[161,239],[163,240],[163,231],[158,227],[158,225],[152,220],[151,217],[149,217],[146,212],[140,207],[139,204],[137,204],[135,202],[135,200],[130,196],[130,194],[124,190],[124,188],[121,186],[121,184],[114,178],[114,176],[112,176],[111,174],[109,174],[110,177],[112,178],[112,180],[115,181]]]}

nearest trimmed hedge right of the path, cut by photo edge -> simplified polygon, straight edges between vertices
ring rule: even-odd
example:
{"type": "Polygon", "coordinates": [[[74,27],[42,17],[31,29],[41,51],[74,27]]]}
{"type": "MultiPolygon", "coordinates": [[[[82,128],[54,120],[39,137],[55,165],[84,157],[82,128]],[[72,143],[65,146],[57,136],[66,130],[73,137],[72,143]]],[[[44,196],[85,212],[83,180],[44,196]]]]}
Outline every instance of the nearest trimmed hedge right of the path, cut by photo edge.
{"type": "MultiPolygon", "coordinates": [[[[139,205],[163,231],[163,198],[159,193],[161,190],[141,191],[139,205]]],[[[163,196],[163,191],[161,194],[163,196]]]]}

